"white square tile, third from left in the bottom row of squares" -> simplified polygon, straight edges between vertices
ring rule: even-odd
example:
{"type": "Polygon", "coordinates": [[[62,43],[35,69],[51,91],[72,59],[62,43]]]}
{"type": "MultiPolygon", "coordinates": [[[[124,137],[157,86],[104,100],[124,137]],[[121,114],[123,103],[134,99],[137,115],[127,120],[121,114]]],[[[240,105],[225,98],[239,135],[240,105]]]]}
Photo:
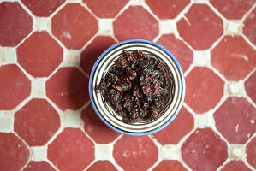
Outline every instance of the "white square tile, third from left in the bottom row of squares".
{"type": "Polygon", "coordinates": [[[181,159],[181,149],[177,145],[164,145],[161,147],[161,155],[163,159],[181,159]]]}

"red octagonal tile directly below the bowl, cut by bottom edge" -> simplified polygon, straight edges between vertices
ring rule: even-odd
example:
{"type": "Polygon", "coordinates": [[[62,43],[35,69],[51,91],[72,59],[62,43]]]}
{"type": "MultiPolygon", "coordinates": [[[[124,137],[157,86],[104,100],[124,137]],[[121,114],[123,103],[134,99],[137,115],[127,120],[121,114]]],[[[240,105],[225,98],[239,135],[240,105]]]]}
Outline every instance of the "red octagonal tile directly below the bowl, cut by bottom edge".
{"type": "Polygon", "coordinates": [[[158,148],[147,136],[124,135],[114,144],[113,156],[124,170],[143,171],[157,162],[158,148]]]}

